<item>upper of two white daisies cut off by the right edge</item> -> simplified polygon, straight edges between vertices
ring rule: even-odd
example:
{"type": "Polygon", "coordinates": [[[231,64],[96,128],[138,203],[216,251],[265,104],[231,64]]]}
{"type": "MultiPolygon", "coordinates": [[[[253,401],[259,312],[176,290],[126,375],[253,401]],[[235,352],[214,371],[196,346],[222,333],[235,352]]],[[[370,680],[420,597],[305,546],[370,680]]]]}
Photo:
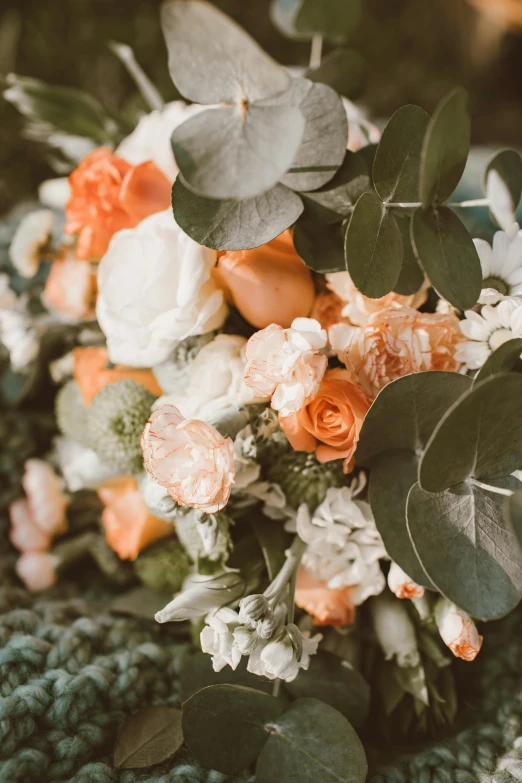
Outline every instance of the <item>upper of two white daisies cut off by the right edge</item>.
{"type": "Polygon", "coordinates": [[[493,247],[474,239],[482,267],[479,304],[494,305],[509,296],[522,295],[522,233],[518,223],[509,232],[497,231],[493,247]]]}

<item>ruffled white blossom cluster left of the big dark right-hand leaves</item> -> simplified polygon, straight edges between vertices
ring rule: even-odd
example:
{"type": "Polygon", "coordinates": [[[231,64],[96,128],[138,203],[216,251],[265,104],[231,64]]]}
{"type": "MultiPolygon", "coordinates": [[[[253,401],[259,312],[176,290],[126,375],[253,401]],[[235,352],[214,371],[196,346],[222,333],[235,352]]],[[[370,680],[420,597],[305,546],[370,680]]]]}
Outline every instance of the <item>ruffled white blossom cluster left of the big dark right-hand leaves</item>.
{"type": "Polygon", "coordinates": [[[379,560],[387,554],[370,505],[354,494],[350,487],[330,488],[311,518],[303,504],[297,532],[308,544],[302,562],[309,574],[333,590],[353,587],[358,606],[384,589],[379,560]]]}

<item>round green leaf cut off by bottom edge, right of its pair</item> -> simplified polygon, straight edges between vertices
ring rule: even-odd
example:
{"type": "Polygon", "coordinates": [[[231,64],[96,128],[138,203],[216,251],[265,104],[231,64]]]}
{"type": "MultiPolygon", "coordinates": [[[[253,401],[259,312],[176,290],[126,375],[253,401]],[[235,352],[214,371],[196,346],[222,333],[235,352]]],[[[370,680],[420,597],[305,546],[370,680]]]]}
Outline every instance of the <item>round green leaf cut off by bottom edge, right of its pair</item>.
{"type": "Polygon", "coordinates": [[[298,699],[268,727],[256,783],[363,783],[364,748],[344,715],[318,699],[298,699]]]}

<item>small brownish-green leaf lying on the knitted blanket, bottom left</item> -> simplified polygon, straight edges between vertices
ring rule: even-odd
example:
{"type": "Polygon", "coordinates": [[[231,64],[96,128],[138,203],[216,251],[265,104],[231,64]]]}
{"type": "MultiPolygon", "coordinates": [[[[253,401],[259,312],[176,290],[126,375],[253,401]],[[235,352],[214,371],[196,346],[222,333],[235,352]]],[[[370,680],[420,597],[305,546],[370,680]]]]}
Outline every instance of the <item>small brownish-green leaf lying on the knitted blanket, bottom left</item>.
{"type": "Polygon", "coordinates": [[[114,748],[116,769],[151,767],[165,761],[183,745],[181,710],[144,707],[120,729],[114,748]]]}

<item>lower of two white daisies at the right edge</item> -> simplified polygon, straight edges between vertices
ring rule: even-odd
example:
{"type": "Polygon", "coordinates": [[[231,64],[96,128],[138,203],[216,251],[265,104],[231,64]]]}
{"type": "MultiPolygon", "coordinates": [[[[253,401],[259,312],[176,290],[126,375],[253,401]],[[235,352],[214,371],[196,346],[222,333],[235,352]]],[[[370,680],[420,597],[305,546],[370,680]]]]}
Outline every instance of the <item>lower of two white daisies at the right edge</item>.
{"type": "Polygon", "coordinates": [[[512,297],[497,305],[484,305],[479,313],[466,310],[460,329],[467,340],[458,343],[455,359],[478,370],[499,346],[522,337],[522,299],[512,297]]]}

